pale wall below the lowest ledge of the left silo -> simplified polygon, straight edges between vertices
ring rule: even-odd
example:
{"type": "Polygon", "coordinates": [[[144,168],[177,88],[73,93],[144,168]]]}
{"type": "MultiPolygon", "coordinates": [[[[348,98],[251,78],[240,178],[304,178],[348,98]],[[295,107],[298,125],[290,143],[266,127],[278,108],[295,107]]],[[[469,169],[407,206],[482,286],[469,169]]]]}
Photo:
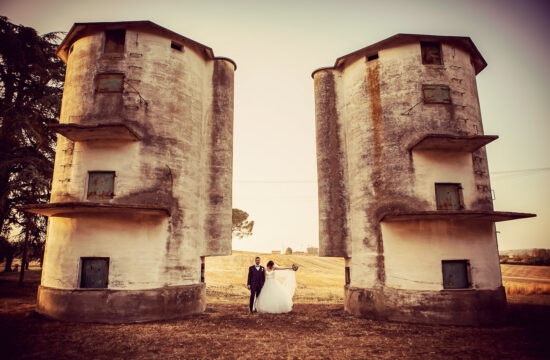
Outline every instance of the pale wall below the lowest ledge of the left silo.
{"type": "MultiPolygon", "coordinates": [[[[164,271],[166,217],[78,215],[52,217],[46,242],[47,264],[42,285],[57,289],[80,287],[80,258],[109,257],[109,289],[138,290],[170,284],[164,271]],[[139,224],[139,225],[136,225],[139,224]]],[[[198,263],[187,265],[180,285],[197,283],[198,263]]]]}

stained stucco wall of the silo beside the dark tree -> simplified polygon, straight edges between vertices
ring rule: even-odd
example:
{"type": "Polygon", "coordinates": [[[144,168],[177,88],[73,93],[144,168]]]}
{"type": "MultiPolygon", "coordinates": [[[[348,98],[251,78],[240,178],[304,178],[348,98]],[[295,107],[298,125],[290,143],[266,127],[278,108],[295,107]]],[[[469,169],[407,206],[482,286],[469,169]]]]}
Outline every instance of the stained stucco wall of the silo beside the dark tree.
{"type": "Polygon", "coordinates": [[[62,124],[124,124],[139,141],[58,137],[51,202],[88,202],[89,171],[114,171],[112,199],[170,216],[121,212],[51,218],[42,284],[78,285],[81,257],[109,257],[109,287],[199,284],[201,257],[231,254],[233,72],[230,61],[172,49],[171,39],[129,26],[120,54],[104,32],[72,44],[62,124]],[[101,73],[124,75],[122,92],[99,93],[101,73]]]}

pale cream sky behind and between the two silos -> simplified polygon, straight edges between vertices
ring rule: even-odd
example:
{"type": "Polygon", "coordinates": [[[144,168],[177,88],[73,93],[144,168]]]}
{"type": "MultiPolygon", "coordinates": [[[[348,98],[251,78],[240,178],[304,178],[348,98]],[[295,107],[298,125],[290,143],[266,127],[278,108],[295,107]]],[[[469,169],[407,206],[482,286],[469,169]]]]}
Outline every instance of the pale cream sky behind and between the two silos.
{"type": "Polygon", "coordinates": [[[310,74],[397,33],[469,36],[495,209],[536,213],[497,223],[499,247],[550,248],[550,2],[0,0],[40,33],[75,22],[151,20],[236,61],[233,207],[256,222],[233,249],[318,246],[315,108],[310,74]]]}

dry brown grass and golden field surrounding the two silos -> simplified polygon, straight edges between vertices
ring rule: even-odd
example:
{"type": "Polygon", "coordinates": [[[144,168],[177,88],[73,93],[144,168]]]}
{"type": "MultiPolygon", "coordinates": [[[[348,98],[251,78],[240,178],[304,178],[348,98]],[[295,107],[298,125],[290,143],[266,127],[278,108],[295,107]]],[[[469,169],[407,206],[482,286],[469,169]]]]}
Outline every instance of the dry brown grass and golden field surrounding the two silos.
{"type": "MultiPolygon", "coordinates": [[[[343,311],[343,260],[262,255],[262,264],[301,265],[296,304],[289,314],[249,315],[244,284],[254,256],[207,260],[205,313],[144,324],[45,319],[33,311],[40,271],[28,272],[23,287],[18,274],[0,273],[0,359],[550,358],[550,295],[509,295],[508,319],[498,327],[373,321],[343,311]]],[[[531,278],[540,270],[503,274],[531,278]]]]}

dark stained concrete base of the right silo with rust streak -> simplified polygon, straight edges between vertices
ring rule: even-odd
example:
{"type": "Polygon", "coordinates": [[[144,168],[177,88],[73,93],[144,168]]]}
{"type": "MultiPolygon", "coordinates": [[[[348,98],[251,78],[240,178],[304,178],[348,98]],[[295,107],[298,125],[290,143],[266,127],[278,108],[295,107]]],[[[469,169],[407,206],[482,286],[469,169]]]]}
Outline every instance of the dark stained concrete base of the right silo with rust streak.
{"type": "Polygon", "coordinates": [[[369,319],[447,325],[495,325],[506,315],[504,287],[494,290],[402,290],[344,287],[347,312],[369,319]]]}

